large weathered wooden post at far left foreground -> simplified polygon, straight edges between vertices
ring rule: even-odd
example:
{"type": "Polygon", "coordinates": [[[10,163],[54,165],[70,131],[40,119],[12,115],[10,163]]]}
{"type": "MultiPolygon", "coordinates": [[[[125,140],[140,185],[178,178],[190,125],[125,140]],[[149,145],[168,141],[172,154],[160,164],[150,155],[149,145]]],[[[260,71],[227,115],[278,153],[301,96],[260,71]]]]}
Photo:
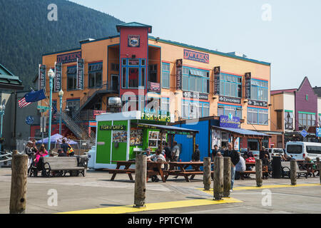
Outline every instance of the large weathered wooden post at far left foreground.
{"type": "Polygon", "coordinates": [[[26,182],[28,172],[28,155],[12,157],[10,214],[24,214],[26,210],[26,182]]]}

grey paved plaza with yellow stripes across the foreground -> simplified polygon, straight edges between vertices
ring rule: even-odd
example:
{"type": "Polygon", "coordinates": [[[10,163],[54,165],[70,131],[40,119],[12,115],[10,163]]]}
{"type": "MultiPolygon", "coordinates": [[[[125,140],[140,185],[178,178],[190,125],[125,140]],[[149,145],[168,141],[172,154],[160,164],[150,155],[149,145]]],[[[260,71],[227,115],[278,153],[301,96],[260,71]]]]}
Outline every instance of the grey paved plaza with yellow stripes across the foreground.
{"type": "MultiPolygon", "coordinates": [[[[28,177],[26,213],[321,213],[319,177],[300,177],[296,187],[290,186],[290,179],[270,178],[263,180],[262,188],[255,187],[252,177],[235,180],[230,202],[219,203],[212,200],[213,192],[203,191],[201,175],[191,182],[183,177],[148,182],[146,208],[141,210],[128,210],[134,199],[134,182],[128,175],[117,175],[113,182],[108,172],[101,171],[88,171],[86,177],[28,177]],[[52,192],[57,192],[56,206],[50,205],[52,192]]],[[[9,213],[10,187],[11,169],[1,168],[0,213],[9,213]]]]}

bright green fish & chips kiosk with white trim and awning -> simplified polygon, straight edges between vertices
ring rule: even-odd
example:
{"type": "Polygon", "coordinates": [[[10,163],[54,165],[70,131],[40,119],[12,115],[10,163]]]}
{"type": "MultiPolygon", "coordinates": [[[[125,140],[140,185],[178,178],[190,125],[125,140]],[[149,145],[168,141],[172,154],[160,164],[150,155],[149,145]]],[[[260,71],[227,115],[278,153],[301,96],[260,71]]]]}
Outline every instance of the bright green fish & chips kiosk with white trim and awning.
{"type": "MultiPolygon", "coordinates": [[[[146,148],[152,153],[159,145],[173,142],[175,135],[194,138],[198,130],[178,128],[170,113],[159,114],[129,111],[123,113],[103,113],[96,116],[96,155],[95,169],[113,169],[119,160],[133,160],[146,148]]],[[[170,143],[171,144],[171,143],[170,143]]]]}

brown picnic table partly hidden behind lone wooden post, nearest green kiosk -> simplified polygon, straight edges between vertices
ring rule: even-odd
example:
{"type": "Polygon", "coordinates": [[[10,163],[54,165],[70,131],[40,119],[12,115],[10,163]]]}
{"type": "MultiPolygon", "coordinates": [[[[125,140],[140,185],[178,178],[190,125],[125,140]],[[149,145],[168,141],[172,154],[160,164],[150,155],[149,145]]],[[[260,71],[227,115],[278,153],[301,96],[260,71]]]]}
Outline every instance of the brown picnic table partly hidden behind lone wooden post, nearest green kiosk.
{"type": "MultiPolygon", "coordinates": [[[[116,162],[116,169],[108,169],[109,173],[113,173],[113,176],[111,177],[111,180],[115,180],[115,177],[118,173],[126,173],[130,180],[133,180],[132,173],[135,173],[135,169],[131,169],[131,165],[134,165],[136,162],[131,161],[112,161],[116,162]],[[121,169],[121,167],[123,168],[121,169]]],[[[165,163],[165,162],[164,162],[165,163]]],[[[160,175],[163,182],[165,182],[164,173],[166,173],[165,170],[161,169],[162,162],[152,162],[147,161],[147,177],[146,182],[148,182],[148,178],[151,175],[160,175]],[[158,171],[155,171],[153,168],[157,168],[158,171]]]]}

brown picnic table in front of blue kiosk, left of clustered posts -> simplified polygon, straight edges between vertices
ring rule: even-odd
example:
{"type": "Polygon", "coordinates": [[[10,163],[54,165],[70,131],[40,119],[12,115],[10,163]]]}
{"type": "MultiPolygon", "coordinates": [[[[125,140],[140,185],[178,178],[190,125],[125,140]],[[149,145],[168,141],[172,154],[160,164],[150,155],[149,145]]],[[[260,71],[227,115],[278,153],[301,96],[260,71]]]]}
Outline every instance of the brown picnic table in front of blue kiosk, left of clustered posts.
{"type": "MultiPolygon", "coordinates": [[[[200,167],[203,166],[203,162],[168,162],[170,165],[167,175],[165,175],[165,180],[167,180],[169,175],[183,176],[185,177],[186,182],[193,180],[195,175],[203,175],[203,171],[200,170],[200,167]],[[188,167],[192,167],[193,170],[188,170],[188,167]],[[188,176],[190,176],[188,179],[188,176]]],[[[211,162],[213,164],[213,162],[211,162]]],[[[213,171],[211,171],[213,175],[213,171]]]]}

